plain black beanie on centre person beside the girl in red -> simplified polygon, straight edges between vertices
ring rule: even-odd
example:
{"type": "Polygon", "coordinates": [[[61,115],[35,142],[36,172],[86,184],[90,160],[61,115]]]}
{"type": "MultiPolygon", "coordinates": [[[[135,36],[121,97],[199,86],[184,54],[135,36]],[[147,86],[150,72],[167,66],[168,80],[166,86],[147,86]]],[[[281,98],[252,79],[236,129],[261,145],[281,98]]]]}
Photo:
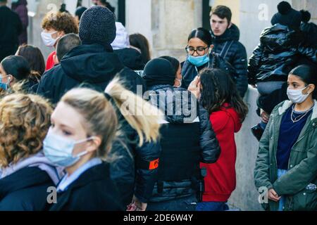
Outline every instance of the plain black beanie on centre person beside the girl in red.
{"type": "Polygon", "coordinates": [[[175,82],[175,70],[173,65],[164,58],[154,58],[149,60],[144,68],[145,82],[147,82],[147,88],[154,85],[174,85],[175,82]]]}

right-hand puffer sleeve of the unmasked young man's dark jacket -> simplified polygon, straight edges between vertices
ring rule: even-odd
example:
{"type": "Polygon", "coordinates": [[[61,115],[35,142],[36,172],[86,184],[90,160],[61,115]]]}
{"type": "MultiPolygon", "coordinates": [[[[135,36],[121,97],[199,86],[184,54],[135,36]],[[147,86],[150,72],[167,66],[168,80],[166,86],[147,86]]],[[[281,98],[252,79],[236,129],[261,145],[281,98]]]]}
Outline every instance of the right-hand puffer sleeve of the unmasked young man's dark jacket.
{"type": "Polygon", "coordinates": [[[235,68],[237,78],[235,80],[237,90],[240,96],[243,98],[245,92],[248,89],[248,77],[247,77],[247,51],[241,43],[237,43],[237,51],[233,58],[232,66],[235,68]]]}

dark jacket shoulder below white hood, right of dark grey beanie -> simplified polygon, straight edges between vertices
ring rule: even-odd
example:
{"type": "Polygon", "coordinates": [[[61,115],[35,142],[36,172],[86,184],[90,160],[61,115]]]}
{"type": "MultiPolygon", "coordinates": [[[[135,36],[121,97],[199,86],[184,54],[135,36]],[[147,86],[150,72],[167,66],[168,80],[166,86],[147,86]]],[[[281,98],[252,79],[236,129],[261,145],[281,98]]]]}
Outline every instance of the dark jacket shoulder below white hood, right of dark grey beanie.
{"type": "Polygon", "coordinates": [[[144,63],[142,61],[142,55],[136,49],[118,49],[114,50],[114,53],[119,57],[123,65],[131,70],[143,70],[144,63]]]}

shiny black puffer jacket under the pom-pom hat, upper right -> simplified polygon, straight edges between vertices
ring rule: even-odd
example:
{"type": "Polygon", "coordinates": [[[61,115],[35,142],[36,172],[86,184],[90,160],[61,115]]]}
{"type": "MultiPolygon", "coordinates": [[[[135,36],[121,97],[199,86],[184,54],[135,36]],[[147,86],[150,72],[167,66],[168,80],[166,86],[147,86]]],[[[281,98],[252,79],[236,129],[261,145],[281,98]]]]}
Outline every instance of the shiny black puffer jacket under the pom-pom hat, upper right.
{"type": "Polygon", "coordinates": [[[302,32],[276,24],[261,33],[260,44],[249,59],[249,84],[266,81],[286,81],[297,62],[306,56],[314,63],[316,47],[302,43],[302,32]]]}

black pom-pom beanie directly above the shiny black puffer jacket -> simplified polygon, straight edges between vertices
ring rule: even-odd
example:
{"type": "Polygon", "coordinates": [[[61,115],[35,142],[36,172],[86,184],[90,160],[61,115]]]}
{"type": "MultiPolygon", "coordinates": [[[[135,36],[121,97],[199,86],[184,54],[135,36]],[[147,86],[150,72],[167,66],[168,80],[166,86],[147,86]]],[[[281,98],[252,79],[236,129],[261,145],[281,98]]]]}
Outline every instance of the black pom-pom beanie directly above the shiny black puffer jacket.
{"type": "Polygon", "coordinates": [[[278,13],[275,13],[271,19],[271,24],[285,25],[292,29],[298,29],[302,22],[302,13],[294,10],[287,1],[281,1],[278,4],[278,13]]]}

